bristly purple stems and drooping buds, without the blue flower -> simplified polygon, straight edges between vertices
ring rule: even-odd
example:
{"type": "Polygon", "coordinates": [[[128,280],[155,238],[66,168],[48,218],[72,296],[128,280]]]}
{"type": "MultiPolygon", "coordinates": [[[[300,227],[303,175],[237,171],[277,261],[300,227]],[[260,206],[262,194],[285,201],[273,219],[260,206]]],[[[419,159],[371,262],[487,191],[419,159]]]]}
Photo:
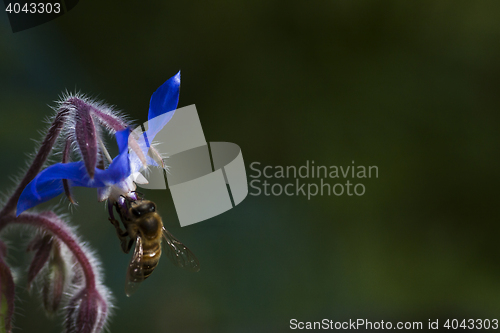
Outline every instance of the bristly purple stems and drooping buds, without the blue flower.
{"type": "MultiPolygon", "coordinates": [[[[96,113],[94,107],[94,104],[85,104],[85,101],[73,96],[59,104],[53,122],[25,176],[0,211],[0,231],[8,225],[21,224],[31,225],[38,230],[27,249],[34,252],[28,270],[28,287],[35,280],[39,281],[36,285],[41,286],[40,293],[47,314],[63,312],[67,333],[101,332],[113,307],[111,293],[102,284],[102,274],[95,256],[66,222],[50,211],[25,212],[16,216],[16,204],[25,187],[40,173],[61,133],[66,137],[62,162],[70,162],[71,140],[77,139],[84,147],[80,149],[80,153],[88,162],[86,166],[92,170],[95,168],[93,161],[97,164],[97,159],[91,156],[94,153],[97,156],[98,153],[91,115],[96,113]],[[71,132],[72,124],[76,123],[80,123],[80,131],[71,132]],[[93,130],[89,127],[93,127],[93,130]],[[89,141],[95,143],[95,149],[88,149],[89,141]]],[[[120,130],[126,126],[123,120],[113,118],[110,113],[100,114],[112,123],[109,130],[120,130]]],[[[67,185],[65,182],[64,189],[72,200],[67,185]]],[[[0,241],[0,325],[3,326],[0,330],[11,332],[15,285],[11,270],[5,262],[6,254],[7,247],[0,241]]]]}

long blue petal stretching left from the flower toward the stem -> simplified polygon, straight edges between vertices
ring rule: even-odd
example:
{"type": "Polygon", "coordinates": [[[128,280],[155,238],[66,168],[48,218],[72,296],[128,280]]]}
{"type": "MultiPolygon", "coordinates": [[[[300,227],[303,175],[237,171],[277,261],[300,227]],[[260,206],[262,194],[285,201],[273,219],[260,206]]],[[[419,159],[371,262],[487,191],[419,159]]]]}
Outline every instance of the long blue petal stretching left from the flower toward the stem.
{"type": "Polygon", "coordinates": [[[40,172],[21,193],[17,202],[17,215],[61,194],[62,179],[68,179],[71,186],[105,187],[128,177],[130,175],[129,133],[129,129],[116,133],[120,154],[113,159],[106,170],[95,169],[94,179],[88,175],[83,162],[57,163],[40,172]]]}

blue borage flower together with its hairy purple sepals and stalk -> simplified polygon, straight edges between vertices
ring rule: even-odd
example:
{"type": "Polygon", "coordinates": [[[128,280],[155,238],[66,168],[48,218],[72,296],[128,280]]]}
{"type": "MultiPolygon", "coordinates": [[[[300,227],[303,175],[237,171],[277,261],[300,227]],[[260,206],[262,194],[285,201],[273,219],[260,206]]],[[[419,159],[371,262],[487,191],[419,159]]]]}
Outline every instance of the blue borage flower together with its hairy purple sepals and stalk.
{"type": "MultiPolygon", "coordinates": [[[[163,167],[161,156],[151,143],[172,118],[179,101],[179,89],[180,72],[153,93],[148,112],[149,128],[145,137],[131,135],[124,120],[107,110],[101,110],[98,104],[76,97],[62,102],[62,107],[68,106],[74,112],[73,123],[70,122],[72,128],[63,131],[66,133],[63,163],[46,168],[26,186],[17,203],[17,215],[63,192],[72,201],[69,192],[72,186],[97,188],[99,201],[108,199],[109,207],[123,200],[122,196],[137,200],[135,183],[147,182],[140,172],[148,165],[163,167]],[[100,129],[96,127],[94,118],[108,130],[116,131],[119,154],[114,159],[111,159],[102,143],[100,129]],[[78,147],[82,161],[64,163],[68,161],[68,147],[72,145],[78,147]],[[103,156],[109,163],[106,169],[103,167],[103,156]]],[[[137,131],[133,134],[137,134],[137,131]]]]}

